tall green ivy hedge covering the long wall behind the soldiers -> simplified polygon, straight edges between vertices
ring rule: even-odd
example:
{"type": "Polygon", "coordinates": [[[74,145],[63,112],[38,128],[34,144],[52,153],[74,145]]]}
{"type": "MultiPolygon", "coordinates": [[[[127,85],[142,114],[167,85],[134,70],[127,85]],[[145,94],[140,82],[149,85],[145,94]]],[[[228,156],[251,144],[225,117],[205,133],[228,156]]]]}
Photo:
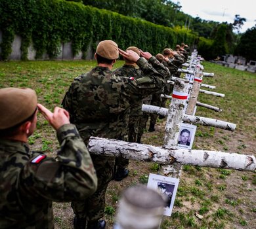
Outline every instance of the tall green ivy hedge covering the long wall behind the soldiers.
{"type": "Polygon", "coordinates": [[[22,60],[27,59],[31,42],[36,58],[44,52],[54,58],[60,44],[70,41],[74,55],[79,50],[85,54],[89,44],[95,48],[104,39],[116,41],[120,48],[134,45],[157,54],[196,39],[191,33],[64,0],[0,0],[0,15],[2,60],[11,54],[14,34],[22,37],[22,60]]]}

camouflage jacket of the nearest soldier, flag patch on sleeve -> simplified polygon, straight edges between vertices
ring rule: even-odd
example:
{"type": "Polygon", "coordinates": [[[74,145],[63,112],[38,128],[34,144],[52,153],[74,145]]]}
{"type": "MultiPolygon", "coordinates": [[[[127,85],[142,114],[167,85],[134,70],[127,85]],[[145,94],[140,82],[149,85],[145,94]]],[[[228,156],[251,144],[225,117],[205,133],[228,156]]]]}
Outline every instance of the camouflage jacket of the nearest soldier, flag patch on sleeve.
{"type": "Polygon", "coordinates": [[[75,126],[62,126],[57,136],[56,158],[0,139],[0,228],[54,228],[53,201],[83,200],[95,192],[93,162],[75,126]]]}

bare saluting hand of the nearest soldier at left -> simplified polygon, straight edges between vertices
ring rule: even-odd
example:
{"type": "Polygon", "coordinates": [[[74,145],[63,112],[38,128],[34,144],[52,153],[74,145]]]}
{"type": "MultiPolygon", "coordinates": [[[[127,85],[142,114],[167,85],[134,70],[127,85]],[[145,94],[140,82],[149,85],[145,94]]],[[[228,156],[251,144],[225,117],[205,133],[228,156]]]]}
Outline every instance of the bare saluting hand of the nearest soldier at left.
{"type": "Polygon", "coordinates": [[[39,103],[37,104],[37,107],[39,112],[55,130],[58,130],[64,124],[70,124],[70,114],[65,109],[55,107],[54,112],[52,113],[49,109],[39,103]]]}

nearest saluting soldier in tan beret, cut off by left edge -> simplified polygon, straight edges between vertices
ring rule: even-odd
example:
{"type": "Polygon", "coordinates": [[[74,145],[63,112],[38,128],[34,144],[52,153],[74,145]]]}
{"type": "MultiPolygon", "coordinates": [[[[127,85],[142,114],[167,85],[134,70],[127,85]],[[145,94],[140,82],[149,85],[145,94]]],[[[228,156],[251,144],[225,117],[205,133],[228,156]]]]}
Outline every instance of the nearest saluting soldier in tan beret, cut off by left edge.
{"type": "Polygon", "coordinates": [[[0,228],[54,228],[52,202],[84,200],[96,190],[96,173],[68,112],[51,113],[30,88],[0,89],[0,228]],[[56,158],[31,152],[37,108],[56,130],[56,158]]]}

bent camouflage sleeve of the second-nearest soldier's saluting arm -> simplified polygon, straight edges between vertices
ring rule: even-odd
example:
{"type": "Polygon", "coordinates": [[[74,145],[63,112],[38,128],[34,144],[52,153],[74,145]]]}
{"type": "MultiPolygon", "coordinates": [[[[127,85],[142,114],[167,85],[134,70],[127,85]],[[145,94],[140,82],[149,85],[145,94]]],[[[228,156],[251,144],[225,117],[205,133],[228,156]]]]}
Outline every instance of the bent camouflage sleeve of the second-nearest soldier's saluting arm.
{"type": "Polygon", "coordinates": [[[155,92],[159,92],[165,84],[165,78],[161,73],[156,71],[145,58],[140,58],[137,65],[143,73],[143,77],[129,79],[129,86],[126,88],[130,91],[129,94],[137,94],[148,96],[155,92]]]}

